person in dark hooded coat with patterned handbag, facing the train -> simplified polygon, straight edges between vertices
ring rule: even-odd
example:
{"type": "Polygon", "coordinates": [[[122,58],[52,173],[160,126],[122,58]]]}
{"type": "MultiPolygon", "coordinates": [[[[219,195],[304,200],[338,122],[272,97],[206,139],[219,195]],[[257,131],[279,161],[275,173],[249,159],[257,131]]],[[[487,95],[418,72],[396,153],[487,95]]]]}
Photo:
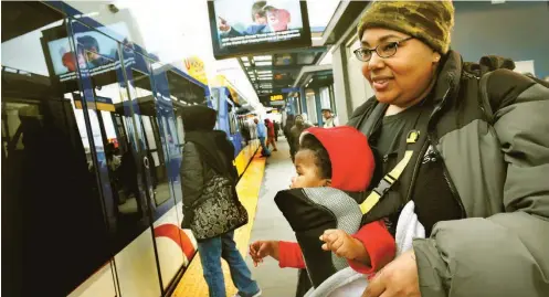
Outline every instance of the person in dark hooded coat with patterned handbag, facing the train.
{"type": "Polygon", "coordinates": [[[198,241],[204,279],[211,297],[225,297],[223,257],[241,297],[261,296],[250,269],[236,250],[234,230],[247,223],[236,195],[234,147],[222,130],[214,130],[214,109],[201,105],[182,110],[184,146],[181,163],[183,222],[198,241]]]}

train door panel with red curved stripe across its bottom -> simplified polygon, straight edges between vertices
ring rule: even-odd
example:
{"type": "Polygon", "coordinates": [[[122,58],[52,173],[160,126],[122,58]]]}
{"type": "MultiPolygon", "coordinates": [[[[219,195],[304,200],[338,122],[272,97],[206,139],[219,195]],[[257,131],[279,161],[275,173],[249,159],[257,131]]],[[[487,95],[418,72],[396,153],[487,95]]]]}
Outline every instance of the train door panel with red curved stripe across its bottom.
{"type": "Polygon", "coordinates": [[[166,87],[166,76],[152,74],[152,62],[126,47],[124,60],[131,57],[135,59],[135,65],[125,64],[124,70],[131,102],[137,102],[138,108],[134,113],[136,123],[140,126],[137,135],[142,139],[142,156],[149,159],[149,166],[145,166],[144,171],[148,171],[154,188],[150,191],[154,203],[151,235],[155,238],[160,282],[165,290],[188,257],[193,255],[194,247],[189,235],[179,227],[182,218],[181,212],[176,209],[177,198],[181,197],[181,187],[177,183],[179,169],[176,167],[181,157],[176,146],[178,135],[173,105],[169,94],[165,92],[169,89],[166,87]]]}

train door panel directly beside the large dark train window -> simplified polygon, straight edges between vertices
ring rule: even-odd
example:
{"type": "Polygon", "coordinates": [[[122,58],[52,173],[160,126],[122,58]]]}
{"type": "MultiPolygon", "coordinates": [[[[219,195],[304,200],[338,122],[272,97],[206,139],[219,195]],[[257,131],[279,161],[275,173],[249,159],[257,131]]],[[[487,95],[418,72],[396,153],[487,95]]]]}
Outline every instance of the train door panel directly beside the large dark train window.
{"type": "Polygon", "coordinates": [[[151,226],[151,158],[131,83],[135,55],[118,42],[72,21],[72,41],[80,67],[107,218],[120,296],[158,296],[161,280],[151,226]],[[116,108],[122,106],[122,108],[116,108]]]}

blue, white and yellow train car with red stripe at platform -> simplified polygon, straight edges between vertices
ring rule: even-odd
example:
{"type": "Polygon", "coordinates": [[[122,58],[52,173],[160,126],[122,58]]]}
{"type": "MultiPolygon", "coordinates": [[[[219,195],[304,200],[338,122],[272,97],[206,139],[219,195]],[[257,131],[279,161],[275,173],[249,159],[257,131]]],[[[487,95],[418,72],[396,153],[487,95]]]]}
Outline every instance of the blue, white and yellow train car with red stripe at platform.
{"type": "MultiPolygon", "coordinates": [[[[169,295],[197,250],[180,229],[179,110],[210,97],[64,2],[3,1],[2,293],[169,295]]],[[[247,165],[257,145],[220,102],[247,165]]]]}

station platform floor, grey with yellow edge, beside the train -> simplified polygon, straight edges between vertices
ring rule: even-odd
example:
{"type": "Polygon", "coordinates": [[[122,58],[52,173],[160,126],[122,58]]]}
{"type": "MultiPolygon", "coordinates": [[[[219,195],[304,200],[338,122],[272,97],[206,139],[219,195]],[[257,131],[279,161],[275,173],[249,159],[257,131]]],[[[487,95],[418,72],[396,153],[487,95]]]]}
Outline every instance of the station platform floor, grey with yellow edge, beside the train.
{"type": "MultiPolygon", "coordinates": [[[[289,158],[289,146],[284,137],[278,137],[277,147],[278,150],[273,151],[270,158],[262,158],[257,151],[236,185],[250,222],[235,231],[234,241],[263,291],[262,297],[292,297],[295,296],[297,286],[297,269],[279,268],[278,262],[271,257],[254,267],[247,255],[249,245],[254,241],[295,241],[294,232],[274,202],[275,194],[289,187],[291,177],[295,172],[289,158]]],[[[237,290],[231,282],[229,266],[224,261],[222,264],[226,296],[231,297],[237,290]]],[[[192,258],[172,297],[208,297],[208,286],[198,254],[192,258]]]]}

